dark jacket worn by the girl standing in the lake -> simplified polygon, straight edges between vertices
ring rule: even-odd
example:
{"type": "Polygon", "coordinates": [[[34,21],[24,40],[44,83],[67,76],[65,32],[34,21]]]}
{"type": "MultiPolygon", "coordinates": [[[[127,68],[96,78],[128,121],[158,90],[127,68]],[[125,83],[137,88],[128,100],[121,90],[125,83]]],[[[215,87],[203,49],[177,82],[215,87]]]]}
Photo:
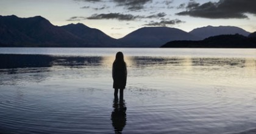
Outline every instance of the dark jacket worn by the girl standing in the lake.
{"type": "Polygon", "coordinates": [[[126,88],[127,69],[126,63],[115,61],[112,66],[113,88],[126,88]]]}

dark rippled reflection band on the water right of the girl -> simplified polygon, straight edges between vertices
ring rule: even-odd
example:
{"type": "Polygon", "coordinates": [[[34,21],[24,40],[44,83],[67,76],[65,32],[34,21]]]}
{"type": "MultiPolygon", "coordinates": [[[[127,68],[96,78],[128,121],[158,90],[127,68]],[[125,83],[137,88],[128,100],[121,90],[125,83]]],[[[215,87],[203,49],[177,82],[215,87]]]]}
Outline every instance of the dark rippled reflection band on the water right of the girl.
{"type": "Polygon", "coordinates": [[[255,59],[252,58],[191,58],[191,57],[133,57],[135,66],[244,66],[255,68],[255,59]],[[247,63],[246,63],[247,61],[247,63]]]}

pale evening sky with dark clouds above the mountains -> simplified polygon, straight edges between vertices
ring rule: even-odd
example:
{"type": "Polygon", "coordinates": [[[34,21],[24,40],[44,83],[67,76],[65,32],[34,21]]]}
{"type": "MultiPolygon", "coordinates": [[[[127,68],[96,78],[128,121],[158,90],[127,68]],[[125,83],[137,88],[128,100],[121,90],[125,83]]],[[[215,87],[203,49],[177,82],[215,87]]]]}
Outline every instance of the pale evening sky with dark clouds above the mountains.
{"type": "Polygon", "coordinates": [[[0,15],[43,16],[55,26],[83,23],[113,38],[152,26],[256,31],[256,0],[0,0],[0,15]]]}

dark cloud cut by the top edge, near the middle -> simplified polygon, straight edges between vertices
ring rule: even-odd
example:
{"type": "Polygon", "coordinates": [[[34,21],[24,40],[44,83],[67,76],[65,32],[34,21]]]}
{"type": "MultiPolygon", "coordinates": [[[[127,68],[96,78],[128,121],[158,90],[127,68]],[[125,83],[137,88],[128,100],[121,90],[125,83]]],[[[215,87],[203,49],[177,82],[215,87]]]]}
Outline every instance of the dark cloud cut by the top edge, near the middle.
{"type": "Polygon", "coordinates": [[[152,0],[113,0],[118,6],[125,6],[128,10],[141,10],[144,5],[152,2],[152,0]]]}

